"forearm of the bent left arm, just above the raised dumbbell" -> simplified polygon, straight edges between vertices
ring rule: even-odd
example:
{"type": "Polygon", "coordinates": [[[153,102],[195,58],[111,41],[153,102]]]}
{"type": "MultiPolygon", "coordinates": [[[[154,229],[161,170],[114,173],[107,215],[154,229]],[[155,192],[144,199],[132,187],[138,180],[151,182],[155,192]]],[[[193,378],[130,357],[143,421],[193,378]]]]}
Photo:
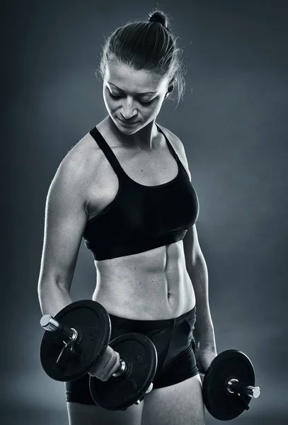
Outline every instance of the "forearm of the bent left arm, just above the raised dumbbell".
{"type": "Polygon", "coordinates": [[[52,317],[72,302],[69,291],[54,282],[38,285],[38,298],[42,314],[51,314],[52,317]]]}

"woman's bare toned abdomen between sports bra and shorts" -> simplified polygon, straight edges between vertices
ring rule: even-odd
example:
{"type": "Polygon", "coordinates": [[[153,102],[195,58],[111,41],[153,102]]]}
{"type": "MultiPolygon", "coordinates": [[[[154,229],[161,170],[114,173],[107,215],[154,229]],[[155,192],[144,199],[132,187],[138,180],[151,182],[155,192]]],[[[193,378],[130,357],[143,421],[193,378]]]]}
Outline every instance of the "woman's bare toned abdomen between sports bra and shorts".
{"type": "Polygon", "coordinates": [[[171,319],[195,307],[182,241],[95,265],[93,300],[117,317],[171,319]]]}

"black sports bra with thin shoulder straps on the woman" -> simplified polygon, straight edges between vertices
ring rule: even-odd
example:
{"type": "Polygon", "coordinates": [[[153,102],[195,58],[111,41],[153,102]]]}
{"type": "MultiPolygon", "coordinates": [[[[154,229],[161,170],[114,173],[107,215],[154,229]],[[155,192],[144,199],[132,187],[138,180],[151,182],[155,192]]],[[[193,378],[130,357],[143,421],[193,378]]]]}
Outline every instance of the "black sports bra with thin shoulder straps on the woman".
{"type": "Polygon", "coordinates": [[[83,232],[87,248],[98,261],[178,242],[197,221],[199,203],[195,189],[168,138],[158,125],[157,128],[178,164],[175,179],[157,186],[144,186],[130,179],[97,128],[90,132],[119,179],[115,199],[88,220],[83,232]]]}

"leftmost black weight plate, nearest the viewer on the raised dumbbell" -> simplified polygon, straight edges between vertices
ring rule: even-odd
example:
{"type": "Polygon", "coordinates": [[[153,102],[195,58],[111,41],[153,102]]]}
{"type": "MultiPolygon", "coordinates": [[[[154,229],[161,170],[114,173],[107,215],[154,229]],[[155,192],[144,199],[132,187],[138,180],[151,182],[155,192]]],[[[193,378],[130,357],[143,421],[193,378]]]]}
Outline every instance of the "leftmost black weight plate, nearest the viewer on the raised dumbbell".
{"type": "Polygon", "coordinates": [[[59,331],[45,331],[40,346],[40,361],[50,378],[70,381],[88,373],[105,352],[111,333],[110,317],[96,301],[80,300],[64,307],[55,316],[62,324],[76,329],[79,355],[72,354],[65,368],[59,368],[57,358],[64,346],[59,331]]]}

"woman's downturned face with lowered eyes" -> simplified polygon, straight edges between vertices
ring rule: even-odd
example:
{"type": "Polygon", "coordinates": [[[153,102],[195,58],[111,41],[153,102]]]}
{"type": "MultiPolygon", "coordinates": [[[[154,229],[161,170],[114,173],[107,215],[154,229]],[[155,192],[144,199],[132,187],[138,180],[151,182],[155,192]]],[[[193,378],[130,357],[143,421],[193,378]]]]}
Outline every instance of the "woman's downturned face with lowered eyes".
{"type": "Polygon", "coordinates": [[[120,62],[105,69],[105,106],[117,128],[126,134],[133,134],[156,119],[167,89],[167,79],[120,62]]]}

